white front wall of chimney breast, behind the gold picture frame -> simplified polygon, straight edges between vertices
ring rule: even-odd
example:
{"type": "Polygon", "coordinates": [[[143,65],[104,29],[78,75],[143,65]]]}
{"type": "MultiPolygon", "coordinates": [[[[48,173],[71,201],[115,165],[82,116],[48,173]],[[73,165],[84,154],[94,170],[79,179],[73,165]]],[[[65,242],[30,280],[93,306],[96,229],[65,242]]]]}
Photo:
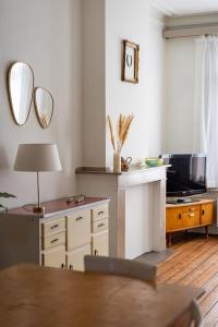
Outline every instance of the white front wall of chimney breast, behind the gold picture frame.
{"type": "MultiPolygon", "coordinates": [[[[162,68],[165,45],[161,25],[145,0],[106,0],[106,111],[113,121],[119,113],[133,113],[122,155],[134,161],[161,152],[162,68]],[[121,82],[121,40],[140,45],[140,83],[121,82]]],[[[106,165],[112,165],[107,138],[106,165]]]]}

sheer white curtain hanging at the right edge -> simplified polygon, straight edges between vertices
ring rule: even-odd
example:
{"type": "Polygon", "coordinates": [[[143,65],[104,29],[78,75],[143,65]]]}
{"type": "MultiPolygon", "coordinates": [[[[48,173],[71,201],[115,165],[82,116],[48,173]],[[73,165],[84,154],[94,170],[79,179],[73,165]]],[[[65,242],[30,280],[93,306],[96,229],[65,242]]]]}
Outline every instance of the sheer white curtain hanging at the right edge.
{"type": "Polygon", "coordinates": [[[194,152],[207,155],[207,187],[218,187],[218,36],[196,39],[194,152]]]}

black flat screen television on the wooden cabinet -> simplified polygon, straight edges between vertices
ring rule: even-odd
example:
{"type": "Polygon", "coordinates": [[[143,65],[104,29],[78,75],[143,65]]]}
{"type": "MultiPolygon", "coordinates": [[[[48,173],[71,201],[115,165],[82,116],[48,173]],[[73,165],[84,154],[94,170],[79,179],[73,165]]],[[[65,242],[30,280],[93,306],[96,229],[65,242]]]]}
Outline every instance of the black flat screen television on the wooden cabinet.
{"type": "Polygon", "coordinates": [[[167,169],[167,196],[206,192],[206,156],[202,154],[161,155],[167,169]]]}

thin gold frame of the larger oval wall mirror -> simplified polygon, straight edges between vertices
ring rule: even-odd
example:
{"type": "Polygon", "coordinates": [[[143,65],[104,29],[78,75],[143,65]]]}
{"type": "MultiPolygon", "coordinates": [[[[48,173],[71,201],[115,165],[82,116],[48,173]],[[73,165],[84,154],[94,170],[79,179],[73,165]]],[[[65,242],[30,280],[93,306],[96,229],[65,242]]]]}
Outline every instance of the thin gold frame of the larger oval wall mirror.
{"type": "Polygon", "coordinates": [[[11,113],[12,113],[12,117],[13,117],[13,120],[15,122],[16,125],[19,126],[23,126],[25,125],[25,123],[27,122],[28,120],[28,117],[31,114],[31,107],[32,107],[32,104],[33,104],[33,93],[34,93],[34,71],[32,69],[32,66],[24,62],[24,61],[14,61],[8,69],[8,75],[7,75],[7,82],[8,82],[8,95],[9,95],[9,102],[10,102],[10,108],[11,108],[11,113]],[[17,121],[16,121],[16,118],[15,118],[15,113],[14,113],[14,109],[13,109],[13,102],[12,102],[12,97],[11,97],[11,85],[10,85],[10,77],[11,77],[11,71],[12,71],[12,68],[14,66],[14,64],[16,63],[23,63],[25,65],[27,65],[32,72],[32,75],[33,75],[33,87],[32,87],[32,96],[31,96],[31,102],[29,102],[29,108],[28,108],[28,114],[26,116],[26,120],[23,124],[20,124],[17,121]]]}

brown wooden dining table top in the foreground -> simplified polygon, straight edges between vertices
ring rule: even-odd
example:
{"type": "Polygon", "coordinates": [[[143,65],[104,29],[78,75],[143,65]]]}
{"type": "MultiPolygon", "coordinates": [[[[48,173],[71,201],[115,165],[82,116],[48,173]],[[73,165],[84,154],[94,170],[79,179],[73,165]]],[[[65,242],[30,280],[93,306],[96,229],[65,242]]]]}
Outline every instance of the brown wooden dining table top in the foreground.
{"type": "Polygon", "coordinates": [[[179,326],[192,300],[203,293],[179,284],[20,264],[0,270],[0,326],[179,326]]]}

